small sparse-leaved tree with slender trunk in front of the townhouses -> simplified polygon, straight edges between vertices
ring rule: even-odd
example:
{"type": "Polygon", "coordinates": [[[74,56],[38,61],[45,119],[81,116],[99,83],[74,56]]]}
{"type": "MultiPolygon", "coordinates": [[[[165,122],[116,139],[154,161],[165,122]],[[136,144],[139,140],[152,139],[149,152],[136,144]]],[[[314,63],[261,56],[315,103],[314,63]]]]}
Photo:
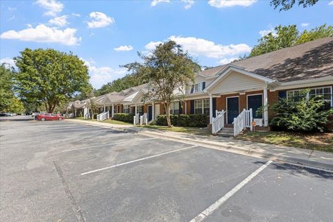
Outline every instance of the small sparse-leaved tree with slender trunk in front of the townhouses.
{"type": "Polygon", "coordinates": [[[176,96],[185,94],[185,89],[194,81],[194,74],[200,71],[200,66],[173,41],[157,45],[148,55],[139,53],[139,57],[144,60],[143,64],[135,62],[133,65],[149,80],[146,97],[164,104],[167,123],[171,127],[170,104],[176,96]]]}

